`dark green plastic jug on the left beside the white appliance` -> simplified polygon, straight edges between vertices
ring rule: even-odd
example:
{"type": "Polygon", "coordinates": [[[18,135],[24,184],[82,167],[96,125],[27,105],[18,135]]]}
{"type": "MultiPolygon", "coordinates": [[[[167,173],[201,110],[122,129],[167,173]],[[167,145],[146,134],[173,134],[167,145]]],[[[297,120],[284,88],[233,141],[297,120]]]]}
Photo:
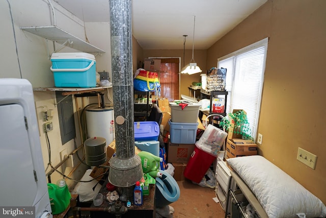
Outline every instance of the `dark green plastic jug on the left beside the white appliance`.
{"type": "Polygon", "coordinates": [[[52,214],[65,211],[70,204],[70,192],[64,179],[58,180],[57,185],[47,183],[52,214]]]}

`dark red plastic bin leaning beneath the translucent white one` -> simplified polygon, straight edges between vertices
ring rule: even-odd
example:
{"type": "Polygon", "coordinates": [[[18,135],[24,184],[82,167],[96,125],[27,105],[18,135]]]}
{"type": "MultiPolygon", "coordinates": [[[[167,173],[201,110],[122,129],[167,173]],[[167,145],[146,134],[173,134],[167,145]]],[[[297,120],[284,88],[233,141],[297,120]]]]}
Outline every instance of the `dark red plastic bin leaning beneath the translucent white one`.
{"type": "Polygon", "coordinates": [[[195,150],[184,169],[184,177],[196,183],[200,183],[215,159],[215,156],[208,154],[195,146],[195,150]]]}

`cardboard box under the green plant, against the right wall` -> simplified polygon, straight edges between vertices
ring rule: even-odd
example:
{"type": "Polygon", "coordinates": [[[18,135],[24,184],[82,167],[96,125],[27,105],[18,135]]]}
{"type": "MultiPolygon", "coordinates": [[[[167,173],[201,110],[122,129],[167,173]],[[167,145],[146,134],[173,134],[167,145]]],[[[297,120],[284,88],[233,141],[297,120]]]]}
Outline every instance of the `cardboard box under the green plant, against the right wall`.
{"type": "Polygon", "coordinates": [[[226,142],[226,158],[257,155],[258,146],[252,140],[239,138],[228,139],[226,142]]]}

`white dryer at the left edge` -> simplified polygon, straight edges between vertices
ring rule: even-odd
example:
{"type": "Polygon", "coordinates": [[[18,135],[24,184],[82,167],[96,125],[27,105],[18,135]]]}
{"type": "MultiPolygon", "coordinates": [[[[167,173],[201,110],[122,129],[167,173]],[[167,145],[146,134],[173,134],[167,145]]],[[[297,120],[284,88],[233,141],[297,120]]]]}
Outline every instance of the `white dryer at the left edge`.
{"type": "Polygon", "coordinates": [[[0,140],[1,211],[17,209],[30,214],[23,208],[32,206],[35,217],[52,217],[33,89],[28,80],[0,79],[0,140]]]}

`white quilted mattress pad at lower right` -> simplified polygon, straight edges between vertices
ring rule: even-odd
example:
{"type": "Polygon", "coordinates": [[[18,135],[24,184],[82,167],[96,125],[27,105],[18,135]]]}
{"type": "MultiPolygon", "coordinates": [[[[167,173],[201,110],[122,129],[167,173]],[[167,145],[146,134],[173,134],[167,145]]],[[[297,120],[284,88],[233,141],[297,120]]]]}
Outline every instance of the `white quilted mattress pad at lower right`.
{"type": "Polygon", "coordinates": [[[271,217],[325,217],[326,206],[311,192],[262,156],[229,158],[271,217]]]}

